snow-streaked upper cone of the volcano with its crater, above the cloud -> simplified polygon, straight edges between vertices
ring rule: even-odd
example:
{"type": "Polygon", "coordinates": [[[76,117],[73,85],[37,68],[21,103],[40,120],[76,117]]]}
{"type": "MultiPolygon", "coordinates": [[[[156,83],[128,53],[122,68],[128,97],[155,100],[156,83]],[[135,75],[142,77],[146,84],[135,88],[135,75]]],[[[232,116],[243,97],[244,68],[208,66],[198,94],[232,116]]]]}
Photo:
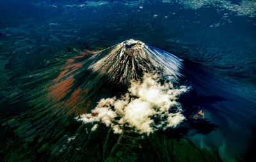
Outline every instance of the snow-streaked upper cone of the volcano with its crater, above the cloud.
{"type": "Polygon", "coordinates": [[[90,70],[106,75],[115,84],[128,85],[130,80],[138,80],[148,72],[159,73],[172,81],[182,76],[182,59],[138,40],[123,41],[97,52],[91,59],[97,61],[90,70]]]}

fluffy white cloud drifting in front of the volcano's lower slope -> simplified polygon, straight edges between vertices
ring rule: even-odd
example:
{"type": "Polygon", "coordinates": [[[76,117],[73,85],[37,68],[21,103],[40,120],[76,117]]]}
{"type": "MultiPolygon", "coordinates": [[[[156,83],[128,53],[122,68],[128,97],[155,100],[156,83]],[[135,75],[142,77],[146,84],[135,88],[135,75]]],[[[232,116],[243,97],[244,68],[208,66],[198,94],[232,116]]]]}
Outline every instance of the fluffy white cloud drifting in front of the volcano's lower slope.
{"type": "Polygon", "coordinates": [[[176,100],[188,87],[173,87],[171,82],[159,83],[157,75],[145,74],[142,81],[131,80],[126,94],[119,99],[100,99],[91,114],[76,117],[77,121],[111,126],[114,133],[129,128],[137,133],[153,133],[157,129],[175,128],[185,117],[176,100]],[[157,120],[156,120],[157,119],[157,120]]]}

